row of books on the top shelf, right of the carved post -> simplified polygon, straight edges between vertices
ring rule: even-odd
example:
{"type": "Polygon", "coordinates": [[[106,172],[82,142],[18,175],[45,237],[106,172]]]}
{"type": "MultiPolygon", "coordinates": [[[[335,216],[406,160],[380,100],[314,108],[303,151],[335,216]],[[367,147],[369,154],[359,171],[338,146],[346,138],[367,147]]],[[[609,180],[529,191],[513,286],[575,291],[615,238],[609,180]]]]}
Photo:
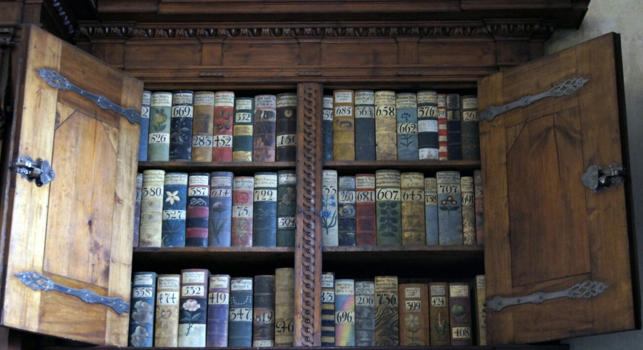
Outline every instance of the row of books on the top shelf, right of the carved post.
{"type": "Polygon", "coordinates": [[[480,160],[478,97],[335,90],[323,97],[323,160],[480,160]]]}

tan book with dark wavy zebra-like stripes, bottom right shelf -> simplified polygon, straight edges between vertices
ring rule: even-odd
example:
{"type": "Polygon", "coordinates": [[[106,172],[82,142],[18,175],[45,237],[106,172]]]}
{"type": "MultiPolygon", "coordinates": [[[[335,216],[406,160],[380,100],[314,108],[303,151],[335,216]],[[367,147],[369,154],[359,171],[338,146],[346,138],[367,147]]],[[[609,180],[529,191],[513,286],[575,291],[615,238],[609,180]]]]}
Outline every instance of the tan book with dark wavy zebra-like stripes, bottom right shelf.
{"type": "Polygon", "coordinates": [[[375,277],[375,345],[399,345],[397,277],[375,277]]]}

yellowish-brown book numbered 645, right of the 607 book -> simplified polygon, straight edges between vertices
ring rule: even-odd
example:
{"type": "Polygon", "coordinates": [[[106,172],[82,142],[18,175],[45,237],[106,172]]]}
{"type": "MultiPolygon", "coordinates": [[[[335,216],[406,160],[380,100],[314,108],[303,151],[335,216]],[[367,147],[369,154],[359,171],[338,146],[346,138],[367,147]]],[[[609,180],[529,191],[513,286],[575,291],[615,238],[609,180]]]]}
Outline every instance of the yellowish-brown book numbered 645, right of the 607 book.
{"type": "Polygon", "coordinates": [[[426,245],[424,228],[424,174],[403,172],[402,183],[402,244],[426,245]]]}

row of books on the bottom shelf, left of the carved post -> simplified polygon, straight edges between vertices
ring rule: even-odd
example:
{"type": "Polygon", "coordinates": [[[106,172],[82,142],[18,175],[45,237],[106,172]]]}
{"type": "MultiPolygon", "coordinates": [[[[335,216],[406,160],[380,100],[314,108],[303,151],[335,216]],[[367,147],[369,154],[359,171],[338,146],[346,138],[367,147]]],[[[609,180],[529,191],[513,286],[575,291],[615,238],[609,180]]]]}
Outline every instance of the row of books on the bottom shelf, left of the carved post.
{"type": "Polygon", "coordinates": [[[254,278],[204,269],[133,275],[130,346],[293,346],[293,330],[293,268],[254,278]]]}

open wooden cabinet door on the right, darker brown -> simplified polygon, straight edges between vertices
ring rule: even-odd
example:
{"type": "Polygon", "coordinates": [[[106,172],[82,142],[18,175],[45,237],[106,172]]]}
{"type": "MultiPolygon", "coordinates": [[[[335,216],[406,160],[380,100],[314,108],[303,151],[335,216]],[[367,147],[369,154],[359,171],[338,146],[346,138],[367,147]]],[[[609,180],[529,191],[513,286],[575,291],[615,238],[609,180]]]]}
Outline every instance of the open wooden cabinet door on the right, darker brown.
{"type": "Polygon", "coordinates": [[[620,91],[613,33],[479,82],[480,111],[536,95],[480,114],[489,342],[635,327],[629,179],[600,193],[581,180],[627,167],[620,91]]]}

